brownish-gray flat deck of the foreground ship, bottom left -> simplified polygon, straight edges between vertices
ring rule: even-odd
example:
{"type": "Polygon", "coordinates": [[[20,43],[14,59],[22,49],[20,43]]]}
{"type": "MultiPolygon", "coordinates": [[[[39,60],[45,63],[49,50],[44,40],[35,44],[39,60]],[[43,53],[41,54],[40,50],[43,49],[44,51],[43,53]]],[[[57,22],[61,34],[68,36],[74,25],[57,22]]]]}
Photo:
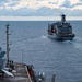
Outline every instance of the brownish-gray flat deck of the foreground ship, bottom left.
{"type": "Polygon", "coordinates": [[[15,62],[14,67],[15,67],[15,72],[13,72],[14,77],[9,77],[4,74],[3,77],[0,77],[0,82],[32,82],[26,65],[15,62]]]}

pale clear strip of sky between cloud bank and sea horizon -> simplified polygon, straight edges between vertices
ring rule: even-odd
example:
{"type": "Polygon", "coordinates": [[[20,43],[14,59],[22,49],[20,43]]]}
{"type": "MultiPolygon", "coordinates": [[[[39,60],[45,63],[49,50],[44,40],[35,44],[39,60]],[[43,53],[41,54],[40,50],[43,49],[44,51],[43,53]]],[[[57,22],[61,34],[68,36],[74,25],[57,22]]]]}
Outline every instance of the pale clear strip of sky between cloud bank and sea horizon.
{"type": "MultiPolygon", "coordinates": [[[[60,16],[0,16],[0,21],[60,21],[60,16]]],[[[82,16],[67,16],[67,21],[82,20],[82,16]]]]}

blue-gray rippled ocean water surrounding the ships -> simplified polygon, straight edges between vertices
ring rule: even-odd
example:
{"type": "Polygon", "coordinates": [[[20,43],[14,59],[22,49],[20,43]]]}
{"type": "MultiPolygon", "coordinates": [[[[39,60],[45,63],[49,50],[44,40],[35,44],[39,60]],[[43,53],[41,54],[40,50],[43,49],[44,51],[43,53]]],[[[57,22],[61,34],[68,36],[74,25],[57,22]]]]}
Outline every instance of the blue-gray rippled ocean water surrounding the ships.
{"type": "MultiPolygon", "coordinates": [[[[45,72],[47,82],[56,73],[56,82],[82,82],[82,21],[69,21],[75,37],[57,42],[47,35],[54,21],[9,21],[10,59],[33,65],[45,72]]],[[[0,21],[0,46],[5,50],[5,21],[0,21]]]]}

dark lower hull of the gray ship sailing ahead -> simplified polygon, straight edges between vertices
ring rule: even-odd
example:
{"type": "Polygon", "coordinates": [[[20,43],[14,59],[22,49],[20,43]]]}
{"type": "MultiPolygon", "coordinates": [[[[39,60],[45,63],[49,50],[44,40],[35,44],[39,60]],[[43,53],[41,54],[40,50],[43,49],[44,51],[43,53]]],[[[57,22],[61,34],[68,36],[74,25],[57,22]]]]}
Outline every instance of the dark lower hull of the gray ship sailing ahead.
{"type": "Polygon", "coordinates": [[[51,37],[54,39],[57,40],[72,40],[74,37],[74,34],[70,34],[70,35],[60,35],[60,34],[48,34],[48,37],[51,37]]]}

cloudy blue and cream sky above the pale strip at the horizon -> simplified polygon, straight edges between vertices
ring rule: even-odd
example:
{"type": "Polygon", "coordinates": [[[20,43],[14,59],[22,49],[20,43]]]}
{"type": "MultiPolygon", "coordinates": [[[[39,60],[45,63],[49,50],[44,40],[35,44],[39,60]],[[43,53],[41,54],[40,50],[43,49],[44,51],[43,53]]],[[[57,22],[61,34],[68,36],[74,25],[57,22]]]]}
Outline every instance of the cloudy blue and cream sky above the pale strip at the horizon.
{"type": "Polygon", "coordinates": [[[82,0],[0,0],[0,16],[82,16],[82,0]]]}

